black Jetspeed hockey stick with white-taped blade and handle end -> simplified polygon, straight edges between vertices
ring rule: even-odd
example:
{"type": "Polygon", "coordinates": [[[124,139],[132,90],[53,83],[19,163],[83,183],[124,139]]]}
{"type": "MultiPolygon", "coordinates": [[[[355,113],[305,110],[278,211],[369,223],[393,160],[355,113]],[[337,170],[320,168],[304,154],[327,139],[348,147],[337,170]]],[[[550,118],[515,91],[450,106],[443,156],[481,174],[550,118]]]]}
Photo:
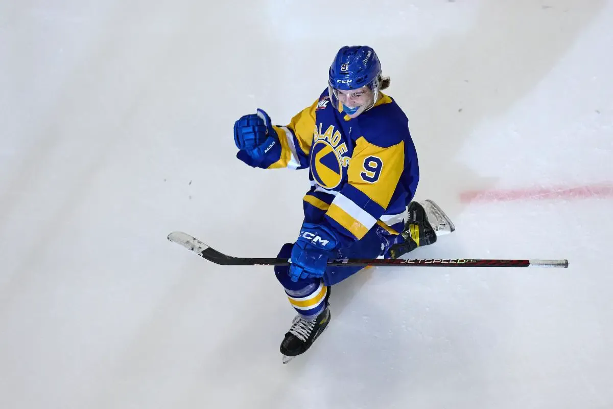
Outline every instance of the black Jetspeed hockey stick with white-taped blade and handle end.
{"type": "MultiPolygon", "coordinates": [[[[183,232],[168,235],[200,257],[222,266],[289,266],[291,259],[232,257],[208,247],[196,237],[183,232]]],[[[329,266],[419,266],[419,267],[568,267],[568,260],[500,260],[500,259],[343,259],[328,262],[329,266]]]]}

